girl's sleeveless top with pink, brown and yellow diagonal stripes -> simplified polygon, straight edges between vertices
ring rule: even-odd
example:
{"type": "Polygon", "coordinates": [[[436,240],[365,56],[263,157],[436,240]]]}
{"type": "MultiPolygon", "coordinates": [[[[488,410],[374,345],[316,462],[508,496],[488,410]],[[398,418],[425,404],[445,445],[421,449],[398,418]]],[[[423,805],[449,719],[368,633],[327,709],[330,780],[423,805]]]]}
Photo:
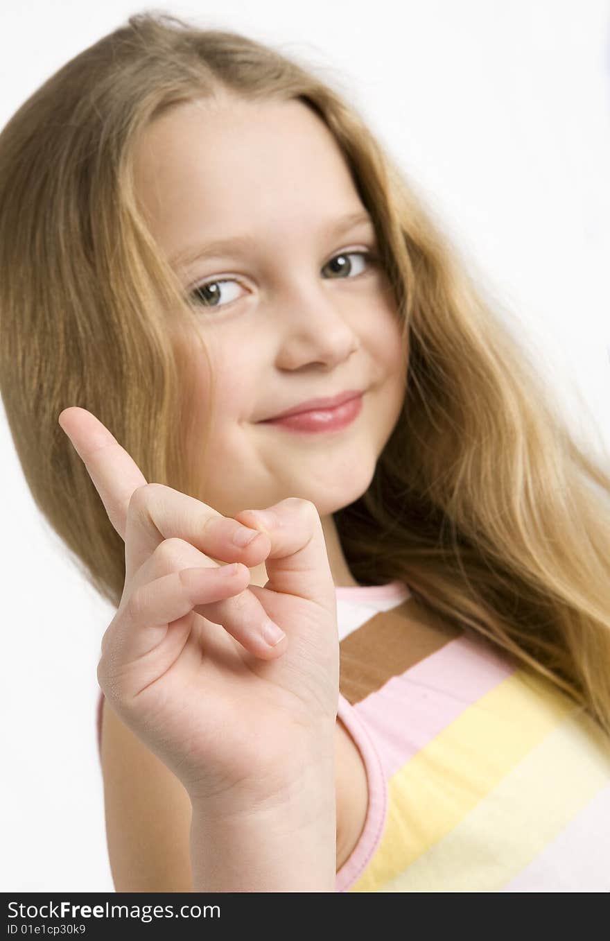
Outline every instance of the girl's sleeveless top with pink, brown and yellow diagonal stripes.
{"type": "Polygon", "coordinates": [[[610,891],[610,740],[582,707],[469,628],[426,653],[403,582],[336,591],[368,784],[337,892],[610,891]]]}

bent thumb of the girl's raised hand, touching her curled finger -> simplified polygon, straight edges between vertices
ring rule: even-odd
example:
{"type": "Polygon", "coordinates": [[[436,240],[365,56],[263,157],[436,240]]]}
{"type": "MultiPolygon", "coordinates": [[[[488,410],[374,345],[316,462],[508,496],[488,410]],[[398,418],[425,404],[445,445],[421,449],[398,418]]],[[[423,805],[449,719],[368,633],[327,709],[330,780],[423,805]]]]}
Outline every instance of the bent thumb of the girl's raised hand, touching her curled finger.
{"type": "Polygon", "coordinates": [[[242,510],[234,518],[271,540],[265,587],[333,610],[336,595],[329,555],[322,521],[311,500],[287,497],[265,510],[242,510]]]}

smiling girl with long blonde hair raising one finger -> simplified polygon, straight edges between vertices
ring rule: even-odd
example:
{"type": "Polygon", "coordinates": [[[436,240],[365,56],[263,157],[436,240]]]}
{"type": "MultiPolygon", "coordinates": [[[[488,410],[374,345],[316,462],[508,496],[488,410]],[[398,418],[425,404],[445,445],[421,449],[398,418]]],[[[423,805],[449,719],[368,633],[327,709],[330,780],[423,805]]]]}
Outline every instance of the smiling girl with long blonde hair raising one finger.
{"type": "Polygon", "coordinates": [[[0,252],[117,890],[610,890],[610,475],[354,109],[134,16],[0,135],[0,252]]]}

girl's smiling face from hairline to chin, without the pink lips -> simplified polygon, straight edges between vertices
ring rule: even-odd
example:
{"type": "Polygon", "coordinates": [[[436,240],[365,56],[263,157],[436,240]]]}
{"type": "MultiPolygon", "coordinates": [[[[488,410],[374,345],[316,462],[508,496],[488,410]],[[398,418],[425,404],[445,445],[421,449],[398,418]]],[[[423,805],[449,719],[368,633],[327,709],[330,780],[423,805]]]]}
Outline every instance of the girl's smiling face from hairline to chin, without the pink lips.
{"type": "Polygon", "coordinates": [[[234,516],[301,497],[322,518],[357,500],[406,375],[387,277],[361,254],[376,253],[375,230],[326,126],[298,102],[181,104],[147,128],[136,185],[217,375],[209,416],[208,366],[194,345],[192,407],[213,420],[207,454],[189,442],[205,461],[200,499],[234,516]],[[345,224],[354,214],[364,218],[345,224]],[[211,250],[224,240],[235,244],[211,250]],[[341,430],[263,423],[347,390],[362,392],[361,411],[341,430]]]}

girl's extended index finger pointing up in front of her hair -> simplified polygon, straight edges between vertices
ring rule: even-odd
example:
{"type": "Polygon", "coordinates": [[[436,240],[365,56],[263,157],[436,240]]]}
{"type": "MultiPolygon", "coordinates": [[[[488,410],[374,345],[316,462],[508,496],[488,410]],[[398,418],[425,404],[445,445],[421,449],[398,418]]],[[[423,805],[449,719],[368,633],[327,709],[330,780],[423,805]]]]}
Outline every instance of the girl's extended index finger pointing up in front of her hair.
{"type": "Polygon", "coordinates": [[[134,490],[148,483],[144,474],[134,458],[87,408],[64,408],[57,423],[85,464],[108,519],[124,542],[127,508],[134,490]]]}

